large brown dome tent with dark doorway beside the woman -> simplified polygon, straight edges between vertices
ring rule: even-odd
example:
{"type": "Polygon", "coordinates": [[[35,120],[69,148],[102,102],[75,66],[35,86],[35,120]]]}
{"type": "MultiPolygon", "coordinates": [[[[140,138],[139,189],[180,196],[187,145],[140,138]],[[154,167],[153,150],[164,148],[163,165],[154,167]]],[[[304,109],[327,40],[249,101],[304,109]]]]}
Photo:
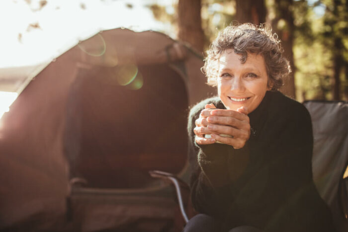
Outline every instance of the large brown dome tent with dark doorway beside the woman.
{"type": "Polygon", "coordinates": [[[0,230],[174,230],[148,171],[186,173],[188,107],[215,94],[202,66],[162,33],[112,29],[24,72],[0,120],[0,230]]]}

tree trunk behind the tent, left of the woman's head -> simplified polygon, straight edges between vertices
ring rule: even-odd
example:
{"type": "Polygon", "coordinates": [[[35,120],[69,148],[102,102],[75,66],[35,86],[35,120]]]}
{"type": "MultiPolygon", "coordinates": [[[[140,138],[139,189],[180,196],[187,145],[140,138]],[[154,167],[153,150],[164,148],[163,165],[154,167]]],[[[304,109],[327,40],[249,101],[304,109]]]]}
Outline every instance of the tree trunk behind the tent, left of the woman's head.
{"type": "Polygon", "coordinates": [[[201,0],[178,1],[178,38],[203,52],[204,32],[201,20],[201,0]]]}

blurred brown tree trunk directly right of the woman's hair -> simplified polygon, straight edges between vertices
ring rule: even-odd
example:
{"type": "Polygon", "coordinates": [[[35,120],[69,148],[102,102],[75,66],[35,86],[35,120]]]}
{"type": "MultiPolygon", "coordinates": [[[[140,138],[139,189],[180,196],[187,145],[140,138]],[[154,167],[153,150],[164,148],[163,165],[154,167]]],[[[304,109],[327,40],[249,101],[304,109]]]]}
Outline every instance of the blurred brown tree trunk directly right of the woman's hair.
{"type": "Polygon", "coordinates": [[[290,62],[291,70],[289,77],[285,79],[284,86],[280,88],[280,91],[289,97],[296,97],[295,91],[295,64],[292,47],[294,43],[294,18],[290,10],[292,0],[275,0],[276,17],[272,20],[272,28],[277,33],[278,38],[281,40],[281,45],[284,48],[284,56],[290,62]],[[279,20],[285,21],[285,26],[278,28],[279,20]]]}

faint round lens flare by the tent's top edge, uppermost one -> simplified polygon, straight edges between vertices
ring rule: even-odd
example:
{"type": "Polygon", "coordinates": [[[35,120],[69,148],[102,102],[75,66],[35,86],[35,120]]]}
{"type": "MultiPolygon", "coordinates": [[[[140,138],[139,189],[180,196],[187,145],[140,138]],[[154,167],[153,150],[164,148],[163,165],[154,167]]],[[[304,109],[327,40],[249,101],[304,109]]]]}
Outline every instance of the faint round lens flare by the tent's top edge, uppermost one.
{"type": "Polygon", "coordinates": [[[82,41],[78,46],[87,55],[93,57],[102,56],[106,51],[106,43],[100,33],[92,38],[82,41]]]}

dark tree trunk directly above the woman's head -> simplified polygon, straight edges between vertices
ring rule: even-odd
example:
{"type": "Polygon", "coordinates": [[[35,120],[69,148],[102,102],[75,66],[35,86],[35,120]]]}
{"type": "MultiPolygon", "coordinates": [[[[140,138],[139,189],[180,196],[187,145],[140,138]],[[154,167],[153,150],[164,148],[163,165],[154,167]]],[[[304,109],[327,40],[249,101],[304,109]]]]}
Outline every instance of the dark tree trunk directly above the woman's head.
{"type": "Polygon", "coordinates": [[[236,0],[236,20],[239,23],[254,24],[266,21],[266,6],[263,0],[236,0]]]}

